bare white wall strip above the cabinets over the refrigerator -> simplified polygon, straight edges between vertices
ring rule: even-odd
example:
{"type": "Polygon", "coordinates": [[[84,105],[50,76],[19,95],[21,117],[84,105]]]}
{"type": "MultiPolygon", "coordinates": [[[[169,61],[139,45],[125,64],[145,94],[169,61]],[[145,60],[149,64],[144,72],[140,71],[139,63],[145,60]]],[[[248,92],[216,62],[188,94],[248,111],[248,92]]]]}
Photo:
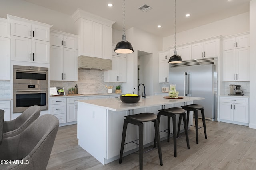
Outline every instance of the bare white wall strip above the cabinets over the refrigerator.
{"type": "MultiPolygon", "coordinates": [[[[196,27],[184,32],[176,33],[176,45],[215,37],[228,36],[249,31],[249,12],[219,20],[207,25],[196,27]]],[[[174,47],[174,35],[163,38],[163,49],[174,47]]]]}

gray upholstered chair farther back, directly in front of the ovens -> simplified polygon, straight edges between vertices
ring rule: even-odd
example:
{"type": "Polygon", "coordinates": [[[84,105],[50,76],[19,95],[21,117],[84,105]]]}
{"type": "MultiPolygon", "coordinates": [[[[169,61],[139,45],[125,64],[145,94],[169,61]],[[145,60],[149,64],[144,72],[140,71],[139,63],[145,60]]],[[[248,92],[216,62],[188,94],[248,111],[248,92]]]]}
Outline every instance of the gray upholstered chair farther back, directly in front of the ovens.
{"type": "Polygon", "coordinates": [[[4,121],[3,138],[18,135],[35,121],[41,112],[40,106],[28,107],[19,117],[10,121],[4,121]]]}

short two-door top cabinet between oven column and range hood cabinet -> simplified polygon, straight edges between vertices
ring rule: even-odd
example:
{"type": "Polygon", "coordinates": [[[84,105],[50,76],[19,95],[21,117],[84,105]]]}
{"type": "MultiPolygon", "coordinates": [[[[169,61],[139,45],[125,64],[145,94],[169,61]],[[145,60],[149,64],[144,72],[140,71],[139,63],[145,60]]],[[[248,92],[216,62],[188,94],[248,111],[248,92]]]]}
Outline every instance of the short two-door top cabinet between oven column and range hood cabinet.
{"type": "Polygon", "coordinates": [[[77,35],[50,30],[50,45],[78,49],[77,35]]]}

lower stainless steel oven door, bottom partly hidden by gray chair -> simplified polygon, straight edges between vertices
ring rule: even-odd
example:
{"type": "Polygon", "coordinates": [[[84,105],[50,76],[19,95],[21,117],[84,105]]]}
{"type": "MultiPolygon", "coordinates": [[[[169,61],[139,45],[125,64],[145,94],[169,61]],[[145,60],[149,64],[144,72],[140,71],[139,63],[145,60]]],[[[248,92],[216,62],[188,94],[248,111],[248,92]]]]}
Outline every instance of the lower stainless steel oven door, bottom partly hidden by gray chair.
{"type": "Polygon", "coordinates": [[[33,105],[48,110],[48,84],[13,84],[13,113],[33,105]]]}

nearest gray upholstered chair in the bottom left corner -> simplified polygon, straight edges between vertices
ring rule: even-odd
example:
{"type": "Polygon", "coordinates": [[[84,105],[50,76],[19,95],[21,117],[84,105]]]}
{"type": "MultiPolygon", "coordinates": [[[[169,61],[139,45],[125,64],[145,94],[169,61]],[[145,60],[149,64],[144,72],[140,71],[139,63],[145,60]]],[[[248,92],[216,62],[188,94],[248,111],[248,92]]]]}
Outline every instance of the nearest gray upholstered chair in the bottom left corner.
{"type": "Polygon", "coordinates": [[[56,116],[46,114],[36,119],[19,135],[4,138],[0,160],[19,160],[18,164],[0,164],[2,170],[45,170],[59,127],[56,116]]]}

